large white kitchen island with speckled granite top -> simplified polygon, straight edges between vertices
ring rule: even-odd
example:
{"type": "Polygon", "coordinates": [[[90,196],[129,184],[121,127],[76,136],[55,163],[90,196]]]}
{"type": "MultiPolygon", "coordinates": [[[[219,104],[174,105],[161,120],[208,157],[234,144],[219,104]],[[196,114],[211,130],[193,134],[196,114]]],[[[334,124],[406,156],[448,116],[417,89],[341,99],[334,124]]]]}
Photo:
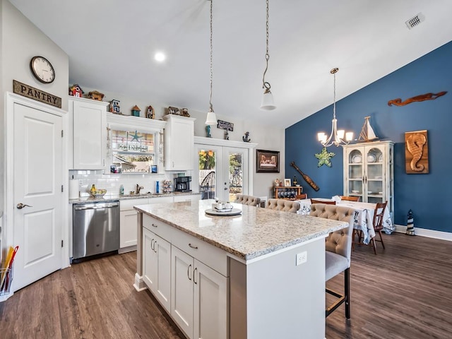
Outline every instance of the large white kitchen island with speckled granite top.
{"type": "Polygon", "coordinates": [[[213,201],[134,206],[135,287],[188,338],[325,338],[325,240],[346,222],[213,201]],[[298,265],[297,265],[298,263],[298,265]]]}

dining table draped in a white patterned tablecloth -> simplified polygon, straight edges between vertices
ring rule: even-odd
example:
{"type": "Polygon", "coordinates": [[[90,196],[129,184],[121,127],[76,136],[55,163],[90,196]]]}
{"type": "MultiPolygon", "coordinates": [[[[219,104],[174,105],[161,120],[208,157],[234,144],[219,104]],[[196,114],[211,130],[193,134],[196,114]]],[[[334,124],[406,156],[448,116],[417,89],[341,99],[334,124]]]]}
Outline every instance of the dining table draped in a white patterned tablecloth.
{"type": "MultiPolygon", "coordinates": [[[[335,201],[336,206],[344,206],[355,209],[353,228],[362,231],[364,237],[363,243],[369,244],[370,240],[375,237],[374,230],[374,213],[376,203],[362,203],[359,201],[343,201],[340,198],[316,198],[317,201],[335,201]]],[[[311,199],[297,200],[299,203],[299,215],[309,215],[311,213],[311,199]]],[[[391,214],[388,206],[386,206],[383,214],[383,232],[391,234],[394,230],[391,214]]]]}

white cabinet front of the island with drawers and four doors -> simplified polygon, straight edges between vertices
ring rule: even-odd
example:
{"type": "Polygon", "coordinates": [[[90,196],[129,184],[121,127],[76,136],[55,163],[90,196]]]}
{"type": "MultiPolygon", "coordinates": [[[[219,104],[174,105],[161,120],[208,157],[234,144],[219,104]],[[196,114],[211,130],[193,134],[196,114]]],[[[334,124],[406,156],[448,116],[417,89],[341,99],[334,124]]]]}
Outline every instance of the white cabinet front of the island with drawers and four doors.
{"type": "Polygon", "coordinates": [[[169,302],[168,313],[182,331],[191,339],[226,339],[225,251],[149,215],[143,215],[142,246],[143,282],[165,308],[169,302]]]}

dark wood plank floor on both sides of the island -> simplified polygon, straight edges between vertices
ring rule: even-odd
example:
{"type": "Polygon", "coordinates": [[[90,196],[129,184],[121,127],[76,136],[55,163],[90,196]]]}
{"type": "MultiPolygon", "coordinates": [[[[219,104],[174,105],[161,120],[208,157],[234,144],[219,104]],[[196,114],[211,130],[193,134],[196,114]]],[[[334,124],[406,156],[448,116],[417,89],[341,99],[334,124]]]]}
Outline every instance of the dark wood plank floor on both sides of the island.
{"type": "MultiPolygon", "coordinates": [[[[333,312],[326,338],[452,338],[452,243],[383,237],[378,255],[352,253],[352,319],[333,312]]],[[[0,303],[0,338],[184,338],[148,291],[134,290],[135,256],[78,263],[16,292],[0,303]]],[[[342,276],[328,282],[342,286],[342,276]]]]}

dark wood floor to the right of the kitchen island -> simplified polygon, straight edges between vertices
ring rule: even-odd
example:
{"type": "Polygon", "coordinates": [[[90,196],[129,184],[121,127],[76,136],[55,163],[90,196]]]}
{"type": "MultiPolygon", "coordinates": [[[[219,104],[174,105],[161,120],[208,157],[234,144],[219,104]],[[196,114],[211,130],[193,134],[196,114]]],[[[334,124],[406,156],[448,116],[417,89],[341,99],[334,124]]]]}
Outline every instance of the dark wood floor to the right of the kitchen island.
{"type": "MultiPolygon", "coordinates": [[[[351,312],[340,307],[326,320],[326,338],[452,338],[452,242],[383,234],[352,252],[351,312]]],[[[343,276],[328,281],[340,290],[343,276]]]]}

